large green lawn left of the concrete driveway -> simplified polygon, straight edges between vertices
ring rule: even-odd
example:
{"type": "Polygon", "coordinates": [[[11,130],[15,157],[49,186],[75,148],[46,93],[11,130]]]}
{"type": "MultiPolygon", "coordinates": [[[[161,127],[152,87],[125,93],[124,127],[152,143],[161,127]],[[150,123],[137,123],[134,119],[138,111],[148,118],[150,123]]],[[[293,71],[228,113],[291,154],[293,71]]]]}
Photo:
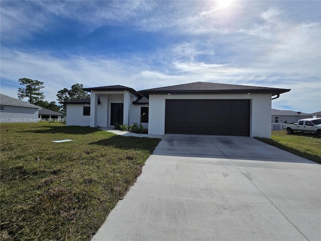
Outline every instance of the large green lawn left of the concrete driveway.
{"type": "Polygon", "coordinates": [[[90,240],[158,142],[59,123],[2,124],[1,240],[90,240]],[[73,141],[52,142],[64,139],[73,141]]]}

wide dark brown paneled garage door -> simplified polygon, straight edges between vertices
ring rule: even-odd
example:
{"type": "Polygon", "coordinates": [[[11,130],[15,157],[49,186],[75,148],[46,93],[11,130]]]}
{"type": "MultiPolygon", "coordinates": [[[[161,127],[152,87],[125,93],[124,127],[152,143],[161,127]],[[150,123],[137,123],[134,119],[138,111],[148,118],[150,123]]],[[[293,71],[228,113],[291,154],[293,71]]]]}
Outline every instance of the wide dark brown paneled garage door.
{"type": "Polygon", "coordinates": [[[248,99],[167,99],[165,133],[250,135],[248,99]]]}

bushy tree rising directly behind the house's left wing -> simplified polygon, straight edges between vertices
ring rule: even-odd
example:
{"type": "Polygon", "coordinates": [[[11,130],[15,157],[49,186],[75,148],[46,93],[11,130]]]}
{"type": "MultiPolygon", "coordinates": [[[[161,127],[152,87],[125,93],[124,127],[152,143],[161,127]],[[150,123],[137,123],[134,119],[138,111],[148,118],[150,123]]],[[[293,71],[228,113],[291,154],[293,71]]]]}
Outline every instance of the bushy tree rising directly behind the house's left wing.
{"type": "MultiPolygon", "coordinates": [[[[84,99],[89,98],[90,94],[87,93],[87,91],[83,90],[82,84],[73,84],[71,86],[71,89],[63,88],[58,91],[57,94],[57,100],[59,102],[68,101],[72,99],[84,99]]],[[[62,112],[66,113],[66,106],[63,105],[62,112]]]]}

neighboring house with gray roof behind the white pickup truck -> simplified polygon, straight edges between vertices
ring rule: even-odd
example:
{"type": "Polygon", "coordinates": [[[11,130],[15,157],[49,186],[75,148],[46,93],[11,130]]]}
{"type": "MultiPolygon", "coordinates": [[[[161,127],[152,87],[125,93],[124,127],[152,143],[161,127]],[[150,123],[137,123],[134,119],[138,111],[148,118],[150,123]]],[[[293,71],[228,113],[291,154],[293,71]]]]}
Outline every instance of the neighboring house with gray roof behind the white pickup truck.
{"type": "Polygon", "coordinates": [[[292,111],[292,110],[279,110],[272,109],[271,123],[294,123],[298,119],[311,118],[312,114],[292,111]]]}

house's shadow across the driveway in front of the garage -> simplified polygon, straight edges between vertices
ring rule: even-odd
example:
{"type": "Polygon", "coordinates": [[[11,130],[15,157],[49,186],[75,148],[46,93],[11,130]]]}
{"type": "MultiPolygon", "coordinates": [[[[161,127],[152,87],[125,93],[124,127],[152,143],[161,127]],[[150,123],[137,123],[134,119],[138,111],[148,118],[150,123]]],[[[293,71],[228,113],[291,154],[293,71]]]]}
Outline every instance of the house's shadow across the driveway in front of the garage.
{"type": "Polygon", "coordinates": [[[167,134],[153,154],[317,164],[250,137],[167,134]]]}

